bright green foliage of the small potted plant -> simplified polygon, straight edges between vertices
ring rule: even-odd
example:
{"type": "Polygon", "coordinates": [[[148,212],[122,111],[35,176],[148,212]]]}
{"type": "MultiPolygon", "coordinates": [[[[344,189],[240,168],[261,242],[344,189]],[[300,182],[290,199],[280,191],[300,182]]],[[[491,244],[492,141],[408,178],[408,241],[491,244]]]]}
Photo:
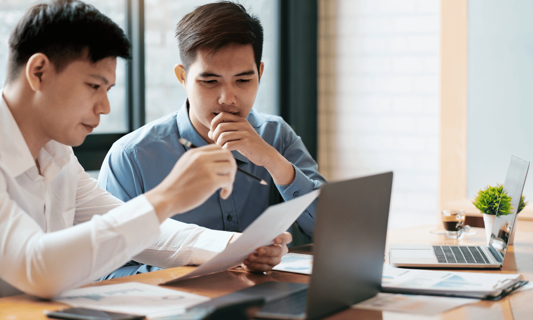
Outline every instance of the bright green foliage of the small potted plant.
{"type": "MultiPolygon", "coordinates": [[[[524,200],[525,198],[522,195],[517,214],[528,204],[524,200]]],[[[511,214],[511,210],[514,209],[511,207],[511,197],[507,196],[501,184],[497,184],[495,187],[488,185],[485,190],[480,190],[472,203],[487,215],[496,215],[496,212],[498,212],[500,216],[505,216],[511,214]]]]}

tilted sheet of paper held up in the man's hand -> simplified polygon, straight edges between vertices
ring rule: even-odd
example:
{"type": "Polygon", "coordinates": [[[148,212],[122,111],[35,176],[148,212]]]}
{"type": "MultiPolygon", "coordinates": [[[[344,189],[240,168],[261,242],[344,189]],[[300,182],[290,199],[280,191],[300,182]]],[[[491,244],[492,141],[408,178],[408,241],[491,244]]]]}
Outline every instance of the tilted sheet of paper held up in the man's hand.
{"type": "Polygon", "coordinates": [[[276,204],[266,210],[253,221],[235,242],[231,243],[218,255],[203,265],[179,278],[161,284],[172,283],[177,280],[215,273],[231,269],[243,263],[243,260],[255,249],[269,245],[273,239],[287,231],[305,208],[317,198],[320,190],[312,191],[297,198],[276,204]]]}

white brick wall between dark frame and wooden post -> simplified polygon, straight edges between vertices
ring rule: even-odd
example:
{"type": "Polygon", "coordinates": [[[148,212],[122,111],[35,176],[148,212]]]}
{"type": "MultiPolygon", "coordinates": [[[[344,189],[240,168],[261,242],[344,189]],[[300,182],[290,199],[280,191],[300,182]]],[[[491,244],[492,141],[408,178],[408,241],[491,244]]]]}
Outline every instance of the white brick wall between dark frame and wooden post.
{"type": "Polygon", "coordinates": [[[338,0],[333,178],[393,170],[389,228],[437,222],[439,0],[338,0]]]}

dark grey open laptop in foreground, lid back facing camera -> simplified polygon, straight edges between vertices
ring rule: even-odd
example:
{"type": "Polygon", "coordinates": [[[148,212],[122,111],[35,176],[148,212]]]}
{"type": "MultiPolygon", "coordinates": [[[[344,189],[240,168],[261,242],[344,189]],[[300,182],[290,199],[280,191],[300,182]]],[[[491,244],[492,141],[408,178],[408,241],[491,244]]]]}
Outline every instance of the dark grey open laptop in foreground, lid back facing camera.
{"type": "Polygon", "coordinates": [[[267,299],[255,317],[318,319],[375,296],[381,289],[391,187],[392,172],[324,185],[309,286],[267,299]]]}

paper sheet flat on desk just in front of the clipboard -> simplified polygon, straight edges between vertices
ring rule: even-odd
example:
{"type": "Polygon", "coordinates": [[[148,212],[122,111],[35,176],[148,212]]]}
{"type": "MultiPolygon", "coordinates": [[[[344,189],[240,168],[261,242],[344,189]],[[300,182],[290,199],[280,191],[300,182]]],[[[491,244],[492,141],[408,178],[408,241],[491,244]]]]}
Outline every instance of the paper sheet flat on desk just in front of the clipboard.
{"type": "Polygon", "coordinates": [[[378,293],[375,297],[352,305],[355,309],[394,311],[410,314],[436,315],[479,299],[418,296],[413,294],[378,293]]]}

